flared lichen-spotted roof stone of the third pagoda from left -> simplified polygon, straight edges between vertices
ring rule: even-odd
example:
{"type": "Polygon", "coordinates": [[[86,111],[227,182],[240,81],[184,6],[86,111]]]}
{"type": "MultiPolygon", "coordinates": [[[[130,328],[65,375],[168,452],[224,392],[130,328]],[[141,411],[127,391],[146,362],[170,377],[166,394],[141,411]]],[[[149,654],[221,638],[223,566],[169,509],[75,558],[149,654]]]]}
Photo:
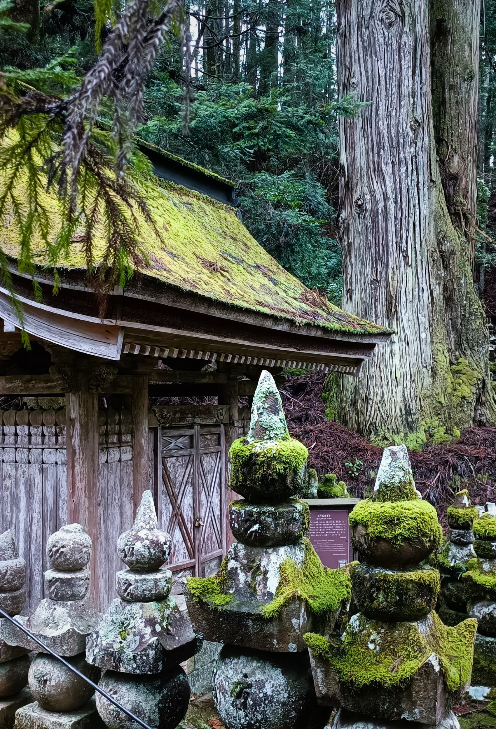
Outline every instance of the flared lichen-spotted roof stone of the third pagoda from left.
{"type": "Polygon", "coordinates": [[[98,630],[88,636],[86,660],[106,671],[158,674],[200,647],[184,597],[136,603],[115,599],[98,630]]]}

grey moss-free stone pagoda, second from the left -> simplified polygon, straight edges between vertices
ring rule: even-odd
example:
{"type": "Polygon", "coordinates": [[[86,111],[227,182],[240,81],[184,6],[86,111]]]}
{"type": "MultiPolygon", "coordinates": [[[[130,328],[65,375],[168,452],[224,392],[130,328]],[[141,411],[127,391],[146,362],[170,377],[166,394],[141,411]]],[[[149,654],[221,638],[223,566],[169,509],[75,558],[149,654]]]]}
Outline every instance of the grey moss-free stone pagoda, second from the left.
{"type": "MultiPolygon", "coordinates": [[[[48,598],[40,602],[31,617],[16,615],[25,625],[68,663],[91,681],[100,671],[85,660],[86,636],[98,623],[98,612],[88,601],[91,539],[80,524],[69,524],[48,539],[50,568],[44,573],[48,598]]],[[[39,644],[12,623],[2,626],[2,637],[9,645],[34,650],[29,668],[29,688],[34,703],[15,714],[15,729],[96,729],[101,722],[96,712],[93,689],[51,655],[40,652],[39,644]]]]}

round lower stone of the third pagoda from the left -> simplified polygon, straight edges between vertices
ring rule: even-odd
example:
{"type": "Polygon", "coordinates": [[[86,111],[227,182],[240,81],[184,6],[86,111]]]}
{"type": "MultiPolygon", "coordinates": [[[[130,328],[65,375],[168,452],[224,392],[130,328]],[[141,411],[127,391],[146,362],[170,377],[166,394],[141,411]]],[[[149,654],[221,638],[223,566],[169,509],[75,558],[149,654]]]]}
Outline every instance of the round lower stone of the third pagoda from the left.
{"type": "MultiPolygon", "coordinates": [[[[190,685],[181,666],[148,676],[105,671],[98,686],[153,729],[177,727],[190,702],[190,685]]],[[[136,722],[99,693],[96,708],[108,729],[136,729],[136,722]]]]}

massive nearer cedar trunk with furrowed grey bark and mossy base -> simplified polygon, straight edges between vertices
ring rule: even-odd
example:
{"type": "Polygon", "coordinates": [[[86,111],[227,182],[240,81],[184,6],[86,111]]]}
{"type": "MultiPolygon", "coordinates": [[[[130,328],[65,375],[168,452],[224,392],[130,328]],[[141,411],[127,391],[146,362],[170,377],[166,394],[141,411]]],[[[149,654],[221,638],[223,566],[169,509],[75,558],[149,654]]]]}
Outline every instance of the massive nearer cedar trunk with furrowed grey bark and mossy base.
{"type": "Polygon", "coordinates": [[[340,97],[367,104],[339,129],[343,308],[395,334],[362,378],[330,378],[328,404],[379,440],[439,439],[495,406],[486,319],[438,169],[427,0],[338,0],[337,14],[340,97]]]}

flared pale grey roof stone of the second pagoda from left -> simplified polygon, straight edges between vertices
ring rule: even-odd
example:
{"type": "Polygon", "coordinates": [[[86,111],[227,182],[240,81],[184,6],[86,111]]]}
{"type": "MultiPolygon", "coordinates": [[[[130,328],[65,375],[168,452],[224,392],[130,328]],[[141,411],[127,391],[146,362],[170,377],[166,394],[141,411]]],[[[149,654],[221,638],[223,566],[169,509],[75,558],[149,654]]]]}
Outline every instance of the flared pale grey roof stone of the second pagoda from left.
{"type": "MultiPolygon", "coordinates": [[[[100,615],[87,599],[74,602],[42,600],[31,617],[16,615],[15,620],[39,637],[47,647],[69,657],[82,653],[86,636],[95,630],[100,615]]],[[[39,651],[39,644],[31,640],[20,628],[4,622],[0,626],[1,638],[12,646],[39,651]]]]}

